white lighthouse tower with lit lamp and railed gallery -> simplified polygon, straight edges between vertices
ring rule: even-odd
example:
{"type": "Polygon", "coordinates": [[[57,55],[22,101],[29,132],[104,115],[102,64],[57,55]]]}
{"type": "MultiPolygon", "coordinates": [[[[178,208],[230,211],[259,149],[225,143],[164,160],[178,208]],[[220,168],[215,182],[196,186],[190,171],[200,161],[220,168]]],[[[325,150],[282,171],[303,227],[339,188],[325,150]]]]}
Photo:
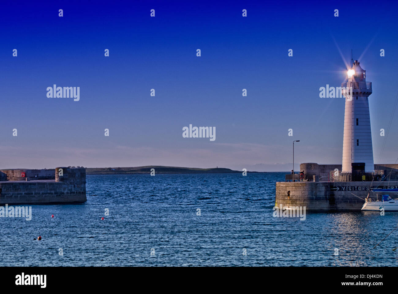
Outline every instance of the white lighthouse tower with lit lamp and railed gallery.
{"type": "Polygon", "coordinates": [[[341,84],[345,96],[343,167],[342,171],[355,169],[373,171],[373,146],[368,97],[372,83],[366,81],[365,71],[355,60],[348,70],[348,81],[341,84]],[[352,94],[351,90],[352,88],[352,94]]]}

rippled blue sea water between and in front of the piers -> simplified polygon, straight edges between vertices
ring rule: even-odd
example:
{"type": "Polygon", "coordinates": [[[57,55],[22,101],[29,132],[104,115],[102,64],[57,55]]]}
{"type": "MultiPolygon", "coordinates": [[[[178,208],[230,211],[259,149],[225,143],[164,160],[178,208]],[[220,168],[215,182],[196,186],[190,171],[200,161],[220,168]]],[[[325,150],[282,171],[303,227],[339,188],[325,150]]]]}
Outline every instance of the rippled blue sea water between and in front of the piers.
{"type": "Polygon", "coordinates": [[[398,265],[398,230],[372,249],[398,213],[274,218],[275,182],[284,176],[89,175],[85,204],[34,205],[31,221],[0,218],[0,265],[398,265]]]}

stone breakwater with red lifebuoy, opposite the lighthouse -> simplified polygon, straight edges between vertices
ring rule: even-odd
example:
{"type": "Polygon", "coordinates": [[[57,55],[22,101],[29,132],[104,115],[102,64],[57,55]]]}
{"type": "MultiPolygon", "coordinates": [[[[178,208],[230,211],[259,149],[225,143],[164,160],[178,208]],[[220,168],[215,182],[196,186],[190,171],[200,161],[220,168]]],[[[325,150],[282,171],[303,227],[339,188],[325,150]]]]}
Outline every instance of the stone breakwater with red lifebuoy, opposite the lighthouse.
{"type": "Polygon", "coordinates": [[[0,170],[0,204],[86,201],[86,169],[0,170]]]}

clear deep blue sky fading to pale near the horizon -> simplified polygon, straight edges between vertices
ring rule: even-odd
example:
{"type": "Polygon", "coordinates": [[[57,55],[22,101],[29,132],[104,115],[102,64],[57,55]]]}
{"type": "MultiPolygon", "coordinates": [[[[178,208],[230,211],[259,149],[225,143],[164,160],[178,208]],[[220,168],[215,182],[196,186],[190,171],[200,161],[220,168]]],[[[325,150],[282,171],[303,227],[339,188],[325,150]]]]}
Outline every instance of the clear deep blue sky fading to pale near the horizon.
{"type": "Polygon", "coordinates": [[[289,171],[293,140],[295,163],[341,164],[344,98],[319,88],[345,80],[351,49],[373,82],[375,163],[394,163],[398,114],[379,130],[398,92],[398,4],[347,3],[2,2],[0,169],[289,171]],[[79,86],[80,101],[47,98],[53,84],[79,86]],[[183,138],[189,124],[216,140],[183,138]]]}

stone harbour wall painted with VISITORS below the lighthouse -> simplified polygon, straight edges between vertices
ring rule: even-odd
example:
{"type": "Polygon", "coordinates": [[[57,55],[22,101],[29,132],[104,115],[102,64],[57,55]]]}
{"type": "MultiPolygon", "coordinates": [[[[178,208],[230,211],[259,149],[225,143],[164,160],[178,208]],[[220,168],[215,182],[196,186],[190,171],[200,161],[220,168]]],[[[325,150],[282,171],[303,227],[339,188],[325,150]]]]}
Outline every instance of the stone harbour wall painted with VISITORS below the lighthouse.
{"type": "MultiPolygon", "coordinates": [[[[398,188],[398,181],[277,182],[275,206],[305,206],[306,211],[314,212],[359,211],[365,203],[369,188],[398,188]]],[[[378,199],[381,194],[378,193],[378,199]]],[[[376,200],[376,193],[370,192],[369,198],[376,200]]]]}

